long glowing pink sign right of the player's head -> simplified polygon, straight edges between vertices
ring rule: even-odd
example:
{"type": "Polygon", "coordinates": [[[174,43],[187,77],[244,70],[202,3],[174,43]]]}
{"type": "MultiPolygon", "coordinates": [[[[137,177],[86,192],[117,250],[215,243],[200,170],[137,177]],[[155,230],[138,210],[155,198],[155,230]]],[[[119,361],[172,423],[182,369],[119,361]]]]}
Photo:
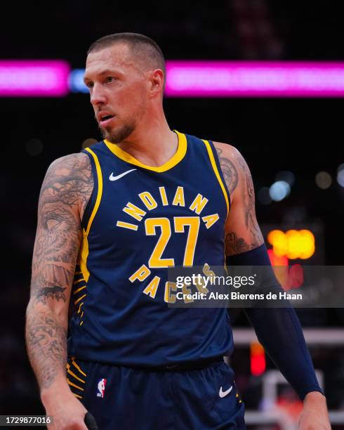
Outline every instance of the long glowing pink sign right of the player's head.
{"type": "Polygon", "coordinates": [[[343,97],[344,63],[174,61],[170,97],[343,97]]]}

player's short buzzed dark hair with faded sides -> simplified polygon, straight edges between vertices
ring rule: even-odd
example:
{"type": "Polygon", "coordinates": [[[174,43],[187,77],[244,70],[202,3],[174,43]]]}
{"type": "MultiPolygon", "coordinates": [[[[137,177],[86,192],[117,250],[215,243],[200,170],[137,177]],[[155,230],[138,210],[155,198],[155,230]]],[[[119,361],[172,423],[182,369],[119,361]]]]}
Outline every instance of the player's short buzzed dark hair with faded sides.
{"type": "Polygon", "coordinates": [[[112,44],[124,43],[128,45],[131,53],[136,60],[139,60],[145,68],[157,68],[164,72],[166,76],[166,65],[164,54],[160,46],[150,37],[139,33],[114,33],[100,37],[88,48],[87,55],[92,51],[98,51],[107,48],[112,44]]]}

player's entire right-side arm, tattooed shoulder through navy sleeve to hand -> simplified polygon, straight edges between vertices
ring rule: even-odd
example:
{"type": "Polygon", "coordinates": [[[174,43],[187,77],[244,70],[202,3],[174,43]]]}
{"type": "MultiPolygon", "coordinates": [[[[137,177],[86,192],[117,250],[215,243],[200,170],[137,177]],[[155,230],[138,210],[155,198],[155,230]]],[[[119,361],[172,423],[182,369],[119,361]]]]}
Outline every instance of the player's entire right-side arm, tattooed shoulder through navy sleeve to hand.
{"type": "MultiPolygon", "coordinates": [[[[260,247],[264,240],[256,220],[255,197],[249,167],[240,152],[231,145],[216,142],[214,145],[232,203],[225,227],[226,255],[234,256],[260,247]]],[[[296,314],[289,308],[247,308],[245,312],[256,330],[258,339],[267,352],[270,351],[270,357],[273,358],[279,370],[284,373],[289,382],[294,382],[294,388],[298,386],[299,393],[303,389],[307,393],[303,400],[304,407],[299,428],[331,429],[326,398],[317,389],[315,375],[314,381],[312,379],[314,370],[312,365],[308,364],[311,363],[310,358],[308,362],[305,358],[307,346],[301,340],[303,334],[296,314]],[[284,329],[289,325],[291,325],[290,330],[285,331],[284,329]],[[273,327],[272,332],[270,327],[273,327]],[[299,350],[300,353],[297,353],[299,350]],[[291,356],[290,351],[293,351],[291,356]],[[296,360],[298,360],[297,365],[296,360]],[[296,373],[297,369],[301,374],[296,373]]]]}

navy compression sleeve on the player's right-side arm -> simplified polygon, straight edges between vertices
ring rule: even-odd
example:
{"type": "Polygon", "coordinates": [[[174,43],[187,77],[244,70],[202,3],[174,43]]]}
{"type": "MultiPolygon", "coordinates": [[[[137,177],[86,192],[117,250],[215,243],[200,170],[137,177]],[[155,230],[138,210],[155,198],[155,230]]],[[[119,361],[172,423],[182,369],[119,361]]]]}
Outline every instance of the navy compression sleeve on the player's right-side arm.
{"type": "MultiPolygon", "coordinates": [[[[274,276],[264,244],[251,251],[227,257],[227,265],[270,266],[268,283],[273,283],[276,291],[283,291],[274,276]]],[[[253,325],[260,344],[301,400],[311,391],[323,393],[294,309],[290,305],[284,308],[253,307],[245,308],[244,312],[253,325]]]]}

